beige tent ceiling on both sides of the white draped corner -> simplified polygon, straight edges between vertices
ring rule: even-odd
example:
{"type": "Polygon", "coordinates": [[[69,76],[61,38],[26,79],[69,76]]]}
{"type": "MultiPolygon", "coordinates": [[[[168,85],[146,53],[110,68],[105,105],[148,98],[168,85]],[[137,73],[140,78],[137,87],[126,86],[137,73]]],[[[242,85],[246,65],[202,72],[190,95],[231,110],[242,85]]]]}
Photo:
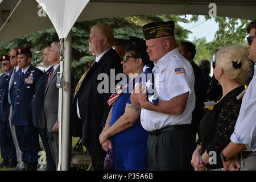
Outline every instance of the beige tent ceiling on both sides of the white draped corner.
{"type": "MultiPolygon", "coordinates": [[[[3,24],[19,0],[3,0],[0,2],[0,23],[3,24]],[[9,12],[9,13],[8,13],[9,12]]],[[[242,19],[256,18],[256,1],[232,0],[92,0],[82,11],[77,22],[90,19],[108,18],[112,16],[152,15],[152,14],[196,14],[208,15],[209,3],[217,5],[218,16],[228,16],[242,19]]],[[[38,16],[38,3],[32,0],[22,0],[8,22],[0,30],[0,44],[23,35],[53,27],[49,18],[38,16]]]]}

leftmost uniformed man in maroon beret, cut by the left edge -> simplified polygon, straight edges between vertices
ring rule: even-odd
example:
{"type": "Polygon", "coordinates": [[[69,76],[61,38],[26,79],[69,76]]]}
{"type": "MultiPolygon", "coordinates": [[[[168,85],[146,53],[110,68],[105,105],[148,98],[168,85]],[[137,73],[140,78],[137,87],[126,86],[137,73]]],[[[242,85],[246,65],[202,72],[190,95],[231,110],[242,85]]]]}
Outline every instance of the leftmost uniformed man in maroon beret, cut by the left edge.
{"type": "Polygon", "coordinates": [[[8,55],[1,56],[1,67],[5,74],[0,77],[0,148],[3,162],[0,167],[16,167],[16,150],[9,125],[10,104],[8,88],[11,76],[11,63],[8,55]]]}

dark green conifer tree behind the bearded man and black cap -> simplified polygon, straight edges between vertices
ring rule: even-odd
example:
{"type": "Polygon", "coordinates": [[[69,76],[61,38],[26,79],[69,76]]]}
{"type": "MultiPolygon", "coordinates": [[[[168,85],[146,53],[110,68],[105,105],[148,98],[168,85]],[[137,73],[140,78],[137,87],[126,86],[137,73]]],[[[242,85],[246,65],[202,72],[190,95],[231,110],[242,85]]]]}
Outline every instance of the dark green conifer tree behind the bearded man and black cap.
{"type": "MultiPolygon", "coordinates": [[[[179,22],[188,23],[189,21],[181,18],[179,15],[118,16],[75,23],[72,28],[72,72],[76,82],[88,67],[88,63],[94,60],[94,57],[88,50],[90,27],[94,24],[109,24],[114,29],[115,38],[129,39],[129,36],[143,38],[143,24],[160,20],[174,20],[177,42],[188,38],[190,31],[180,27],[179,22]]],[[[0,55],[9,53],[10,49],[14,47],[30,47],[33,52],[33,64],[38,65],[41,62],[44,47],[49,46],[58,39],[54,28],[34,32],[0,45],[0,55]]]]}

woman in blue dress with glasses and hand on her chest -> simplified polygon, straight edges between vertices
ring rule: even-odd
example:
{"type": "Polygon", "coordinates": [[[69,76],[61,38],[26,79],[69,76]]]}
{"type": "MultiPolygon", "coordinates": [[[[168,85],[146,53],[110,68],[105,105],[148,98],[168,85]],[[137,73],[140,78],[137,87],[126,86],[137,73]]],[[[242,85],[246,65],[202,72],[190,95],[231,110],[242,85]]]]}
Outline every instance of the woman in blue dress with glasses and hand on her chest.
{"type": "Polygon", "coordinates": [[[130,81],[116,86],[117,91],[108,101],[113,106],[100,135],[102,148],[105,151],[113,149],[115,170],[118,171],[147,170],[148,131],[141,125],[141,108],[130,101],[138,75],[142,73],[144,65],[150,63],[146,50],[143,39],[130,37],[122,60],[123,73],[130,81]]]}

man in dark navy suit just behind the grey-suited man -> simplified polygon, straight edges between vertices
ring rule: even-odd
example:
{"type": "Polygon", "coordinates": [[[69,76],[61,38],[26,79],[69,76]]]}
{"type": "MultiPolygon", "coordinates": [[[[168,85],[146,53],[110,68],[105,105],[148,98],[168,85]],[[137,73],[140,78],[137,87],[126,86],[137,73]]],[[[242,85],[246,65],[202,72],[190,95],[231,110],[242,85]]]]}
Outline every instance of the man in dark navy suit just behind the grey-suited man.
{"type": "Polygon", "coordinates": [[[35,86],[35,92],[31,101],[31,110],[28,113],[28,119],[30,119],[31,123],[33,123],[33,125],[38,129],[39,135],[42,139],[44,150],[46,151],[46,157],[47,157],[47,171],[55,171],[56,167],[53,161],[51,148],[49,147],[49,143],[47,139],[47,130],[41,129],[39,127],[39,119],[44,107],[44,89],[46,88],[46,82],[49,76],[49,72],[53,67],[53,65],[51,65],[48,62],[48,55],[49,55],[50,48],[51,46],[46,47],[43,52],[43,56],[42,56],[43,65],[44,67],[46,67],[46,69],[44,69],[43,75],[40,76],[38,83],[35,86]]]}

